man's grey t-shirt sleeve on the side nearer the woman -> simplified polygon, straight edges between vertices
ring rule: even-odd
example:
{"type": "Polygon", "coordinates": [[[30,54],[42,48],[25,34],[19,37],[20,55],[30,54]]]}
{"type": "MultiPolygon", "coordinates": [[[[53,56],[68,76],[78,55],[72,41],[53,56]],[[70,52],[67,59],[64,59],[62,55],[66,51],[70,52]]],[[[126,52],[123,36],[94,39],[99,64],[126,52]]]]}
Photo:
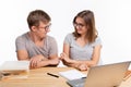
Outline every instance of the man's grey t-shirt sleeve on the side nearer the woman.
{"type": "Polygon", "coordinates": [[[51,54],[58,54],[58,45],[55,38],[50,39],[50,50],[49,55],[51,54]]]}

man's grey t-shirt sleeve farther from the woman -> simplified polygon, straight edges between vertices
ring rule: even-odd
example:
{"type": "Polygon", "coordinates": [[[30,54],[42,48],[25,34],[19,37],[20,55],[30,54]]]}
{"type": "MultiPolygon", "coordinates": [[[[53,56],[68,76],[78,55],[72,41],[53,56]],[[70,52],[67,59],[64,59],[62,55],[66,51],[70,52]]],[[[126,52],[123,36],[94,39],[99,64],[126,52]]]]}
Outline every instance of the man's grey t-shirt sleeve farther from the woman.
{"type": "Polygon", "coordinates": [[[25,50],[25,42],[22,37],[17,37],[15,39],[15,51],[17,50],[25,50]]]}

